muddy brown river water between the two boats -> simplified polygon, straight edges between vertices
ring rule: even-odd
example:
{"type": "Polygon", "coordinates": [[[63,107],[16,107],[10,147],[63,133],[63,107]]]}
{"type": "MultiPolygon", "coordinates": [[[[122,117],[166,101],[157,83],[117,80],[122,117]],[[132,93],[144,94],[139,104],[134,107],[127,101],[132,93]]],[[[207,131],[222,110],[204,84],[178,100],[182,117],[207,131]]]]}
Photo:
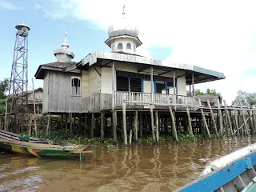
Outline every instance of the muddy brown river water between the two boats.
{"type": "Polygon", "coordinates": [[[173,191],[198,178],[214,158],[256,142],[225,138],[197,142],[138,143],[110,150],[84,162],[0,154],[0,191],[173,191]]]}

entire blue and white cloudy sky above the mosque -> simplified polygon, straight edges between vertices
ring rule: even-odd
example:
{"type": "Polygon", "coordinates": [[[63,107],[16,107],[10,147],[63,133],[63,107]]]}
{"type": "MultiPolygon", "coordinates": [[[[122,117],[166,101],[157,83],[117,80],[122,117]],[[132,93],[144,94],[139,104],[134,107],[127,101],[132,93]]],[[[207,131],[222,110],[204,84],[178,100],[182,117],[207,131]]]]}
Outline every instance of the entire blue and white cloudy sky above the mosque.
{"type": "MultiPolygon", "coordinates": [[[[142,46],[137,54],[200,66],[224,73],[226,79],[197,84],[215,89],[231,104],[238,90],[256,92],[256,2],[254,0],[0,0],[0,80],[10,78],[15,26],[30,27],[29,87],[38,66],[55,62],[53,50],[67,42],[73,61],[95,50],[110,51],[104,43],[108,27],[122,17],[138,26],[142,46]]],[[[42,87],[42,80],[34,80],[42,87]]]]}

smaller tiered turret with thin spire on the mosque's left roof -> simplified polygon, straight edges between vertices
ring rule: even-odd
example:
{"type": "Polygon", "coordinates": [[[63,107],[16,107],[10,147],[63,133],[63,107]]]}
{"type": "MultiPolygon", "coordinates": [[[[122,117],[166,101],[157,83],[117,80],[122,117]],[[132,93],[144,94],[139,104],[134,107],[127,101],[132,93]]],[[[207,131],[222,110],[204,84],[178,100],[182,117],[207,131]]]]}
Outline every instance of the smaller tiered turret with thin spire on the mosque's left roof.
{"type": "Polygon", "coordinates": [[[71,62],[71,59],[74,58],[72,51],[68,50],[69,44],[66,41],[66,36],[68,31],[65,31],[65,40],[62,42],[62,49],[54,50],[54,56],[57,58],[58,62],[71,62]]]}

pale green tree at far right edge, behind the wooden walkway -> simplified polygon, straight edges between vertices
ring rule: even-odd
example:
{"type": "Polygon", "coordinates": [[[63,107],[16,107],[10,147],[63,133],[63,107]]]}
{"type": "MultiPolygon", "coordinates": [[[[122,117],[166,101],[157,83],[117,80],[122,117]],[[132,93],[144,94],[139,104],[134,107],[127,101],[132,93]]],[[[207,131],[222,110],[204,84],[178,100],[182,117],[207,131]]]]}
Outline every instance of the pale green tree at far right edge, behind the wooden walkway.
{"type": "Polygon", "coordinates": [[[238,90],[238,95],[234,98],[234,103],[242,106],[256,106],[256,93],[247,93],[243,90],[238,90]]]}

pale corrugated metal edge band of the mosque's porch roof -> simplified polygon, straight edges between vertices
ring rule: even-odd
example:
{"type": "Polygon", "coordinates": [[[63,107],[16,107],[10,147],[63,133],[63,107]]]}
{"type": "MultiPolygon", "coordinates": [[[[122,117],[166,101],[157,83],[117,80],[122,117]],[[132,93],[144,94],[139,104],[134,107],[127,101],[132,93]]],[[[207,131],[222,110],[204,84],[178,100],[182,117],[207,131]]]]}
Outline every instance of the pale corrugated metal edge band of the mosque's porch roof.
{"type": "MultiPolygon", "coordinates": [[[[215,78],[222,79],[225,78],[224,74],[214,70],[207,70],[199,66],[192,66],[185,63],[178,63],[173,61],[155,59],[155,58],[145,58],[142,56],[134,54],[118,54],[106,51],[94,51],[93,53],[82,59],[82,66],[89,63],[89,66],[94,65],[97,59],[107,59],[119,62],[134,62],[138,64],[147,64],[150,66],[164,66],[168,68],[178,69],[178,70],[190,70],[200,74],[206,74],[214,76],[215,78]]],[[[216,80],[216,79],[215,79],[216,80]]],[[[211,80],[210,80],[211,81],[211,80]]]]}

